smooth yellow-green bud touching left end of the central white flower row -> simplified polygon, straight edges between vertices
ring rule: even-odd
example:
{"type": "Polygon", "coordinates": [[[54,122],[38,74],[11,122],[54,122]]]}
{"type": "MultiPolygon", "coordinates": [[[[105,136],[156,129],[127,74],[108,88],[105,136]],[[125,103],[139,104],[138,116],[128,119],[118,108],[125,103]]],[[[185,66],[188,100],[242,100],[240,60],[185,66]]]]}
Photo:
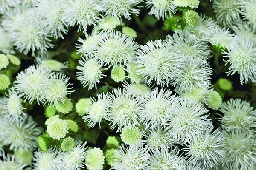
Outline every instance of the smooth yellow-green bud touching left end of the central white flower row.
{"type": "Polygon", "coordinates": [[[93,104],[93,102],[90,98],[80,99],[76,103],[76,112],[78,113],[79,116],[84,116],[84,115],[88,114],[92,104],[93,104]]]}

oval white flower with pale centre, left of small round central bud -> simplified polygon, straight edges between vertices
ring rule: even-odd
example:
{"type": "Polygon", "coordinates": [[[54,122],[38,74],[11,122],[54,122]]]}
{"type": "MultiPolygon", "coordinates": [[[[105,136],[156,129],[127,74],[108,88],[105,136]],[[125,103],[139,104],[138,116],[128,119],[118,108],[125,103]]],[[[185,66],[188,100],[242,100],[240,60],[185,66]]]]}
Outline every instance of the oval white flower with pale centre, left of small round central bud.
{"type": "Polygon", "coordinates": [[[102,79],[105,75],[102,74],[102,64],[91,57],[89,59],[82,58],[79,60],[79,66],[77,66],[77,79],[81,82],[83,87],[88,86],[88,89],[95,87],[97,89],[96,83],[99,83],[99,79],[102,79]]]}

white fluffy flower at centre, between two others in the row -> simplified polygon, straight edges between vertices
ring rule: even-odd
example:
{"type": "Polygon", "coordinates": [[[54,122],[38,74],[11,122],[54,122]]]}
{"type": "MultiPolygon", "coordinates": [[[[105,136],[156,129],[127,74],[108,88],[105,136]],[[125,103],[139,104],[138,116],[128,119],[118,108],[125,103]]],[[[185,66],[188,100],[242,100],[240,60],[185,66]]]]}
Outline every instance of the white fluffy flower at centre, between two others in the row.
{"type": "Polygon", "coordinates": [[[157,125],[164,125],[169,117],[170,109],[175,102],[175,95],[172,96],[172,91],[158,91],[156,88],[150,94],[147,94],[143,99],[140,119],[143,121],[146,129],[154,128],[157,125]]]}

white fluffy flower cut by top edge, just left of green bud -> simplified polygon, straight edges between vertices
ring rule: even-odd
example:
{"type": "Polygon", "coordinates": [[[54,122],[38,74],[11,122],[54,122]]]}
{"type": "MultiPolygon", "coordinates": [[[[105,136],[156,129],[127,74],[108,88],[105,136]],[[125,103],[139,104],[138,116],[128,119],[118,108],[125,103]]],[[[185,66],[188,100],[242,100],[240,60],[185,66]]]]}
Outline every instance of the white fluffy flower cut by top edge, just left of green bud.
{"type": "Polygon", "coordinates": [[[151,8],[149,13],[159,20],[163,20],[175,13],[175,6],[172,0],[146,0],[146,8],[151,8]]]}

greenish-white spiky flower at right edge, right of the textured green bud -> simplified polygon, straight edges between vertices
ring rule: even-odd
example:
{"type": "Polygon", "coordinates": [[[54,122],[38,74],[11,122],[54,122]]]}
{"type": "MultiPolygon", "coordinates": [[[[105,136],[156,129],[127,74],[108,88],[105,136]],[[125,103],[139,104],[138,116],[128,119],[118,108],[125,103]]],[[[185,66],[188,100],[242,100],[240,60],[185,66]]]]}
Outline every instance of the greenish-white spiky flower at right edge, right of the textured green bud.
{"type": "Polygon", "coordinates": [[[245,100],[230,99],[223,103],[219,111],[224,114],[220,118],[221,126],[227,131],[256,127],[256,110],[245,100]]]}

